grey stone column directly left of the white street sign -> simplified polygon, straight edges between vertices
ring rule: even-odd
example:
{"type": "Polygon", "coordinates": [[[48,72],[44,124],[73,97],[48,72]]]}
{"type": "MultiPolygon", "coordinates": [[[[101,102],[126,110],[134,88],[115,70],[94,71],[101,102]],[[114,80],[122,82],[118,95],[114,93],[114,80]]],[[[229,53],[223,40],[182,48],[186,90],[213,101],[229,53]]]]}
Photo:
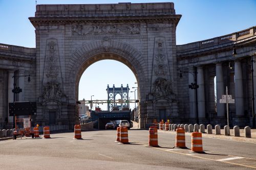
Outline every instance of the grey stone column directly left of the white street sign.
{"type": "Polygon", "coordinates": [[[216,64],[217,116],[225,116],[225,105],[220,103],[224,94],[222,63],[216,64]]]}

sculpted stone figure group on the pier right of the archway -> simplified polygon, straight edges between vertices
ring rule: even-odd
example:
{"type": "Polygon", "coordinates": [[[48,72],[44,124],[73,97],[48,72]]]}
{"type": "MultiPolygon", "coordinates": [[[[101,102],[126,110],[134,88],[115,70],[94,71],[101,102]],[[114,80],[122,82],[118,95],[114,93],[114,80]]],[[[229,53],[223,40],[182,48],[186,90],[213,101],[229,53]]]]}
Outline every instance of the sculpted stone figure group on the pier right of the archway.
{"type": "Polygon", "coordinates": [[[172,94],[172,83],[164,78],[157,78],[152,93],[156,98],[172,94]]]}

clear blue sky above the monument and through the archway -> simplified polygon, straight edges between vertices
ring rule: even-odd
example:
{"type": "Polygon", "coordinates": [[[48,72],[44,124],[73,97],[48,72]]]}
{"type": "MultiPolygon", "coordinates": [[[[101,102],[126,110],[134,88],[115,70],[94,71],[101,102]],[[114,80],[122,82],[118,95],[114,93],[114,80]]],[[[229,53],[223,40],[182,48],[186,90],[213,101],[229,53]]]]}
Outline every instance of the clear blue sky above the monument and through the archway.
{"type": "MultiPolygon", "coordinates": [[[[181,14],[177,27],[177,44],[200,41],[256,26],[256,0],[177,0],[177,1],[54,1],[37,0],[37,4],[111,4],[174,2],[181,14]]],[[[35,47],[35,32],[28,17],[34,16],[34,0],[0,0],[0,43],[35,47]]],[[[133,72],[120,62],[103,60],[94,63],[79,83],[79,100],[106,100],[106,86],[136,86],[133,72]],[[111,67],[106,67],[111,65],[111,67]],[[103,69],[102,69],[103,68],[103,69]]],[[[134,91],[134,89],[131,88],[134,91]]],[[[134,93],[130,95],[134,99],[134,93]]],[[[132,105],[134,107],[134,105],[132,105]]],[[[105,106],[103,107],[105,108],[105,106]]]]}

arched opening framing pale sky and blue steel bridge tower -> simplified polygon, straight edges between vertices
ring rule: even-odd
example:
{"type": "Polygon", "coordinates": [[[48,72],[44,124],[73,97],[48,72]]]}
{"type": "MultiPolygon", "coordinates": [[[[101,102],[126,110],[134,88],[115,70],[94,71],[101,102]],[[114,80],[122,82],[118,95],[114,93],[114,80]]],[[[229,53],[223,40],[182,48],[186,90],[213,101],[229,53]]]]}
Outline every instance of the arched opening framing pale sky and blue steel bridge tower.
{"type": "MultiPolygon", "coordinates": [[[[118,108],[121,114],[123,114],[122,112],[129,112],[129,115],[131,115],[133,110],[135,110],[135,106],[138,106],[134,101],[130,101],[134,100],[134,98],[138,100],[138,83],[133,71],[126,64],[113,59],[96,61],[87,67],[83,71],[78,85],[78,101],[81,102],[79,108],[84,108],[84,110],[80,110],[79,114],[86,115],[85,118],[88,119],[89,117],[93,118],[91,114],[95,112],[98,116],[101,113],[115,112],[112,111],[114,107],[118,108]],[[102,71],[102,68],[105,69],[102,71]],[[115,89],[113,94],[108,93],[108,86],[109,89],[115,89]],[[136,95],[131,91],[136,91],[136,95]],[[112,98],[110,98],[111,95],[112,98]],[[116,103],[113,103],[110,110],[109,103],[106,101],[111,99],[115,99],[116,103]],[[124,111],[127,108],[129,109],[124,111]]],[[[129,119],[130,122],[131,118],[125,118],[125,115],[117,118],[113,113],[112,117],[98,118],[98,128],[104,129],[106,123],[113,123],[117,126],[117,120],[119,119],[129,119]]]]}

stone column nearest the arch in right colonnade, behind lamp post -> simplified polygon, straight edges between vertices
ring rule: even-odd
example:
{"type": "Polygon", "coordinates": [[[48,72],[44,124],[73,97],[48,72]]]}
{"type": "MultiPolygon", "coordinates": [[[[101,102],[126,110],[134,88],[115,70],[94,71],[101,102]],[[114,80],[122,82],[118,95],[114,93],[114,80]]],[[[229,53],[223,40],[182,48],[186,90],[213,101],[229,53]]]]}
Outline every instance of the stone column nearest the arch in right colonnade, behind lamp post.
{"type": "MultiPolygon", "coordinates": [[[[194,72],[194,68],[191,67],[188,70],[189,72],[194,72]]],[[[196,76],[196,75],[195,75],[196,76]]],[[[188,73],[188,84],[194,83],[195,78],[193,74],[188,73]]],[[[196,118],[197,117],[197,108],[196,108],[196,90],[189,88],[189,111],[190,111],[190,118],[196,118]]]]}

